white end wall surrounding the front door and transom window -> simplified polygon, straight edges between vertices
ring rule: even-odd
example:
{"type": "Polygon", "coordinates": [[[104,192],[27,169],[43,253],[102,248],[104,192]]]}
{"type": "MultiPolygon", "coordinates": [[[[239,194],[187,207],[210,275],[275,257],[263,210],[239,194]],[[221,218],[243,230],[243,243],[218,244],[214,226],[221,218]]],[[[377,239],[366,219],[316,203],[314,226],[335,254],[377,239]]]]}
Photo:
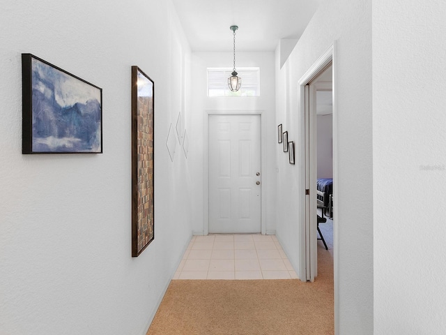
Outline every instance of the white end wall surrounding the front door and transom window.
{"type": "Polygon", "coordinates": [[[194,180],[192,199],[193,232],[206,234],[208,230],[207,201],[207,128],[208,113],[260,112],[262,121],[262,220],[265,232],[275,232],[275,161],[274,149],[277,143],[275,125],[275,82],[273,52],[237,52],[237,67],[259,67],[261,96],[214,97],[207,96],[207,68],[227,68],[232,66],[231,52],[194,52],[192,73],[192,132],[190,133],[190,170],[194,180]]]}

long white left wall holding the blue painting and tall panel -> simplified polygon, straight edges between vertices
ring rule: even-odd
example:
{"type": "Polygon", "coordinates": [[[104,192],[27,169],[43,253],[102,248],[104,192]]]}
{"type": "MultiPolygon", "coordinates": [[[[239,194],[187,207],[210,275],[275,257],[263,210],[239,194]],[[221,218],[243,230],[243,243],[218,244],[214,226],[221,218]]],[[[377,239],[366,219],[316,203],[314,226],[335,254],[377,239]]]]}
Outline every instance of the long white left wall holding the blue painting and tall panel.
{"type": "Polygon", "coordinates": [[[180,110],[189,121],[171,3],[3,0],[0,22],[0,333],[146,334],[192,235],[190,167],[165,144],[180,110]],[[102,87],[103,154],[21,154],[22,52],[102,87]],[[132,65],[155,81],[155,240],[138,258],[132,65]]]}

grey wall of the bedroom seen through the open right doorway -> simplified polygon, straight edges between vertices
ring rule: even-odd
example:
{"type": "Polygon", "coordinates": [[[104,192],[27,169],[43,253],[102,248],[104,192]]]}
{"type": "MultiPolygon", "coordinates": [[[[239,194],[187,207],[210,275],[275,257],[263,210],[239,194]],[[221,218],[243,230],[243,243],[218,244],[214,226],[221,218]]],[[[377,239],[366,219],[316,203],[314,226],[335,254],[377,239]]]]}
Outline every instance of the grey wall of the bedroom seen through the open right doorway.
{"type": "Polygon", "coordinates": [[[333,177],[333,116],[317,116],[318,178],[333,177]]]}

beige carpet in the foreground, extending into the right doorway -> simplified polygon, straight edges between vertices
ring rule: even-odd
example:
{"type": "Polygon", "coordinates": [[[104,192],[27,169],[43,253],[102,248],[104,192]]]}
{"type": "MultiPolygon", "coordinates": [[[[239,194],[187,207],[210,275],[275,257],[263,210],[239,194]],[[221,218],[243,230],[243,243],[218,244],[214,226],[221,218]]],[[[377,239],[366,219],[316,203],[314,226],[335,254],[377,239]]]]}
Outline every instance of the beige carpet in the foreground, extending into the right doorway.
{"type": "Polygon", "coordinates": [[[147,335],[334,334],[332,255],[318,247],[318,277],[171,281],[147,335]]]}

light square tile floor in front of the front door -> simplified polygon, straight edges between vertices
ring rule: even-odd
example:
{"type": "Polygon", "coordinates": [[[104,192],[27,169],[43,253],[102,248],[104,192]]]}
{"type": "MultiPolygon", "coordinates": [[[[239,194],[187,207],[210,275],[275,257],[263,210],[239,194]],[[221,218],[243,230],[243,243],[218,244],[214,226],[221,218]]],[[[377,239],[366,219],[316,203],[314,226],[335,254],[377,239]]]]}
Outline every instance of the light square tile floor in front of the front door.
{"type": "Polygon", "coordinates": [[[190,241],[174,279],[298,278],[274,235],[209,234],[190,241]]]}

